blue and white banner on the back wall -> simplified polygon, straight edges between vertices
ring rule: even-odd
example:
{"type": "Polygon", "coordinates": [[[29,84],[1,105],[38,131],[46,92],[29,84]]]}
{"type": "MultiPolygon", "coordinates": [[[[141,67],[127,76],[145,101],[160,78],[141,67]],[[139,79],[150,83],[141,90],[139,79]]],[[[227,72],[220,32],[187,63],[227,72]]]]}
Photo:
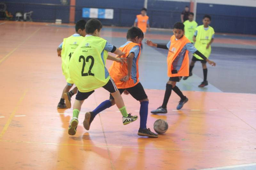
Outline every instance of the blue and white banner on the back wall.
{"type": "Polygon", "coordinates": [[[113,9],[101,9],[101,8],[83,8],[83,18],[103,18],[103,19],[113,19],[114,10],[113,9]]]}

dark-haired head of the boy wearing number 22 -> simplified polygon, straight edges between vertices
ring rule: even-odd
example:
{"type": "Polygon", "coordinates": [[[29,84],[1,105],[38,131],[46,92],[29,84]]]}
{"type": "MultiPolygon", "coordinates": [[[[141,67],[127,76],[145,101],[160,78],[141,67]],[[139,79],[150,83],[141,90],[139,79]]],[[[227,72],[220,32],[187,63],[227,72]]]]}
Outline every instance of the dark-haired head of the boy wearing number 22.
{"type": "Polygon", "coordinates": [[[98,19],[90,19],[87,21],[85,25],[85,31],[87,34],[91,34],[93,36],[100,37],[100,30],[102,28],[102,24],[98,19]]]}

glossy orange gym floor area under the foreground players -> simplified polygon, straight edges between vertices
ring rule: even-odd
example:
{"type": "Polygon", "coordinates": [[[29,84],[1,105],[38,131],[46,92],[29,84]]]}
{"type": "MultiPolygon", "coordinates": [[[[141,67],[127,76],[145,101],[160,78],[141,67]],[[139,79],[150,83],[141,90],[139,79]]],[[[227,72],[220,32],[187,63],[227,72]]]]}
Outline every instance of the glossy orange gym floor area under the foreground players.
{"type": "MultiPolygon", "coordinates": [[[[69,136],[72,108],[57,109],[66,83],[56,48],[73,33],[45,23],[0,22],[1,170],[199,170],[256,163],[256,94],[183,91],[189,101],[177,111],[179,98],[172,93],[168,114],[148,113],[152,131],[157,119],[169,124],[152,139],[137,136],[139,119],[124,126],[116,106],[85,130],[84,113],[109,97],[101,88],[84,102],[76,135],[69,136]]],[[[149,111],[161,105],[164,90],[146,93],[149,111]]],[[[123,98],[128,112],[139,115],[139,102],[123,98]]]]}

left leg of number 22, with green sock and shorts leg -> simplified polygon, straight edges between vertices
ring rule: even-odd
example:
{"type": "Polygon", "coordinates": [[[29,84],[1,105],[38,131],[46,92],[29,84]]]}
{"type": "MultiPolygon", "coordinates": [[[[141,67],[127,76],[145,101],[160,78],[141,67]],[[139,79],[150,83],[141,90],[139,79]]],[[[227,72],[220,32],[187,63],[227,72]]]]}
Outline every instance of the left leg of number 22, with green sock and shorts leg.
{"type": "Polygon", "coordinates": [[[87,99],[94,91],[91,92],[79,92],[76,94],[76,100],[73,106],[73,118],[71,119],[69,128],[68,128],[68,134],[69,135],[75,135],[76,134],[76,128],[78,125],[78,116],[81,110],[81,106],[85,99],[87,99]]]}

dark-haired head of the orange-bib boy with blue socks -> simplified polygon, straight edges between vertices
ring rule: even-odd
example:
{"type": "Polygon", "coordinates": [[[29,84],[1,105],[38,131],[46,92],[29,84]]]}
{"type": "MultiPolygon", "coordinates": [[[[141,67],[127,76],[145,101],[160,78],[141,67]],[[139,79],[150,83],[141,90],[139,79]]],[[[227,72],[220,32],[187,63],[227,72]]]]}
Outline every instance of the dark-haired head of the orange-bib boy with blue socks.
{"type": "Polygon", "coordinates": [[[137,44],[140,44],[143,38],[144,38],[144,33],[138,27],[133,26],[127,31],[126,39],[128,41],[132,41],[137,44]]]}

